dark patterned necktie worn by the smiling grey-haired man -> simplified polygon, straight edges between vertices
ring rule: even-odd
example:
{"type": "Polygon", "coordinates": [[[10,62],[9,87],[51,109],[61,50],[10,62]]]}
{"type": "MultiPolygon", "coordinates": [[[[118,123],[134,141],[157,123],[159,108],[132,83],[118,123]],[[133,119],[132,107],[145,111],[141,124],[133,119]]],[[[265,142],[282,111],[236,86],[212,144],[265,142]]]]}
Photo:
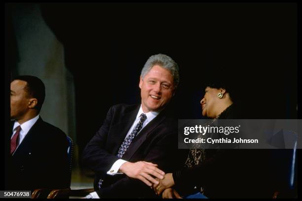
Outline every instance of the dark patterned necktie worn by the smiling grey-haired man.
{"type": "Polygon", "coordinates": [[[117,157],[121,159],[123,157],[124,153],[126,152],[127,148],[130,146],[131,142],[133,141],[134,137],[141,131],[144,121],[147,119],[146,114],[141,114],[141,119],[139,123],[137,123],[135,129],[129,134],[126,139],[123,141],[123,143],[120,145],[117,157]]]}

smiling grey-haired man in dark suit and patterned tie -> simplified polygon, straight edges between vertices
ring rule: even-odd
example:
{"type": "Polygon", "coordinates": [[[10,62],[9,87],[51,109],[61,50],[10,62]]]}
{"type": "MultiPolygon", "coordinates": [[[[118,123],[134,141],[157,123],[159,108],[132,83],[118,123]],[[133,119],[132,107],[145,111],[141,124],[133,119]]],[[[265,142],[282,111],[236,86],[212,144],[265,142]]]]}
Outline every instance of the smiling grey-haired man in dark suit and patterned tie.
{"type": "Polygon", "coordinates": [[[148,59],[139,83],[141,104],[112,106],[84,149],[83,164],[95,172],[96,190],[86,198],[156,197],[154,177],[163,178],[163,171],[181,161],[174,158],[177,119],[167,107],[178,83],[178,66],[170,57],[148,59]]]}

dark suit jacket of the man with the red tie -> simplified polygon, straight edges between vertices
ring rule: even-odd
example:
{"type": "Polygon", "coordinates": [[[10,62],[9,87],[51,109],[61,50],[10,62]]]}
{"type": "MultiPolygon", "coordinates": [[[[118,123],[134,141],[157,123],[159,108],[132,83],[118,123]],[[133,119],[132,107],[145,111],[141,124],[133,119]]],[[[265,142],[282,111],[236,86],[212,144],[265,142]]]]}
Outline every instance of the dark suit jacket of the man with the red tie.
{"type": "Polygon", "coordinates": [[[8,157],[5,189],[68,188],[67,146],[66,134],[39,117],[15,153],[8,157]]]}

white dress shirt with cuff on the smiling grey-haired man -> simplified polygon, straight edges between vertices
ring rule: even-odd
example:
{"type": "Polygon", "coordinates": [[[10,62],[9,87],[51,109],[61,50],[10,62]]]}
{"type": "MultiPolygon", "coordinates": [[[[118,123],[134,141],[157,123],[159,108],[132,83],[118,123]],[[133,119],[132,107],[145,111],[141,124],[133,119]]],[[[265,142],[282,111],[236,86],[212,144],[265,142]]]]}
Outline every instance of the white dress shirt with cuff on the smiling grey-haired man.
{"type": "MultiPolygon", "coordinates": [[[[159,111],[159,112],[160,112],[160,111],[159,111]]],[[[141,130],[143,130],[143,128],[144,128],[145,126],[147,126],[147,124],[149,124],[149,122],[151,122],[151,121],[159,114],[159,112],[150,111],[150,112],[145,113],[146,116],[147,116],[147,119],[144,121],[144,124],[143,124],[143,127],[142,127],[141,130]]],[[[136,119],[135,119],[135,121],[133,122],[133,124],[132,124],[130,130],[129,130],[128,133],[127,133],[127,135],[125,136],[125,139],[126,139],[126,137],[127,137],[129,134],[131,134],[132,130],[135,129],[136,125],[137,125],[138,122],[140,121],[140,116],[141,116],[142,113],[144,113],[144,111],[143,111],[143,108],[142,108],[142,105],[141,105],[140,110],[138,111],[138,113],[137,113],[137,115],[136,115],[136,119]]],[[[123,164],[126,163],[126,162],[127,162],[127,161],[122,160],[122,159],[116,160],[116,161],[113,163],[112,167],[107,171],[107,174],[109,174],[109,175],[123,174],[123,173],[121,173],[121,172],[118,172],[118,170],[119,170],[119,167],[121,167],[121,165],[123,165],[123,164]]],[[[92,198],[100,198],[96,192],[92,192],[92,193],[90,193],[89,195],[91,195],[92,198]]]]}

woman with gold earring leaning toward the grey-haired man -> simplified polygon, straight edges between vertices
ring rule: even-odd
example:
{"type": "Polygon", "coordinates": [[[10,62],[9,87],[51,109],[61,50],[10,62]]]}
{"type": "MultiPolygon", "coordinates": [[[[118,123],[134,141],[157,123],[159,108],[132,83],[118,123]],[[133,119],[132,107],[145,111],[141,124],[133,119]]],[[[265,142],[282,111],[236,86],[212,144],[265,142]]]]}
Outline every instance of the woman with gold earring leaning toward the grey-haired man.
{"type": "MultiPolygon", "coordinates": [[[[207,125],[219,119],[240,119],[229,88],[224,84],[206,86],[200,104],[202,115],[211,118],[207,125]]],[[[180,195],[185,198],[272,197],[272,192],[259,189],[268,175],[265,175],[267,166],[262,166],[265,156],[259,156],[258,150],[198,146],[194,144],[189,150],[182,169],[165,174],[158,185],[153,185],[157,195],[162,193],[163,198],[182,198],[180,195]]]]}

